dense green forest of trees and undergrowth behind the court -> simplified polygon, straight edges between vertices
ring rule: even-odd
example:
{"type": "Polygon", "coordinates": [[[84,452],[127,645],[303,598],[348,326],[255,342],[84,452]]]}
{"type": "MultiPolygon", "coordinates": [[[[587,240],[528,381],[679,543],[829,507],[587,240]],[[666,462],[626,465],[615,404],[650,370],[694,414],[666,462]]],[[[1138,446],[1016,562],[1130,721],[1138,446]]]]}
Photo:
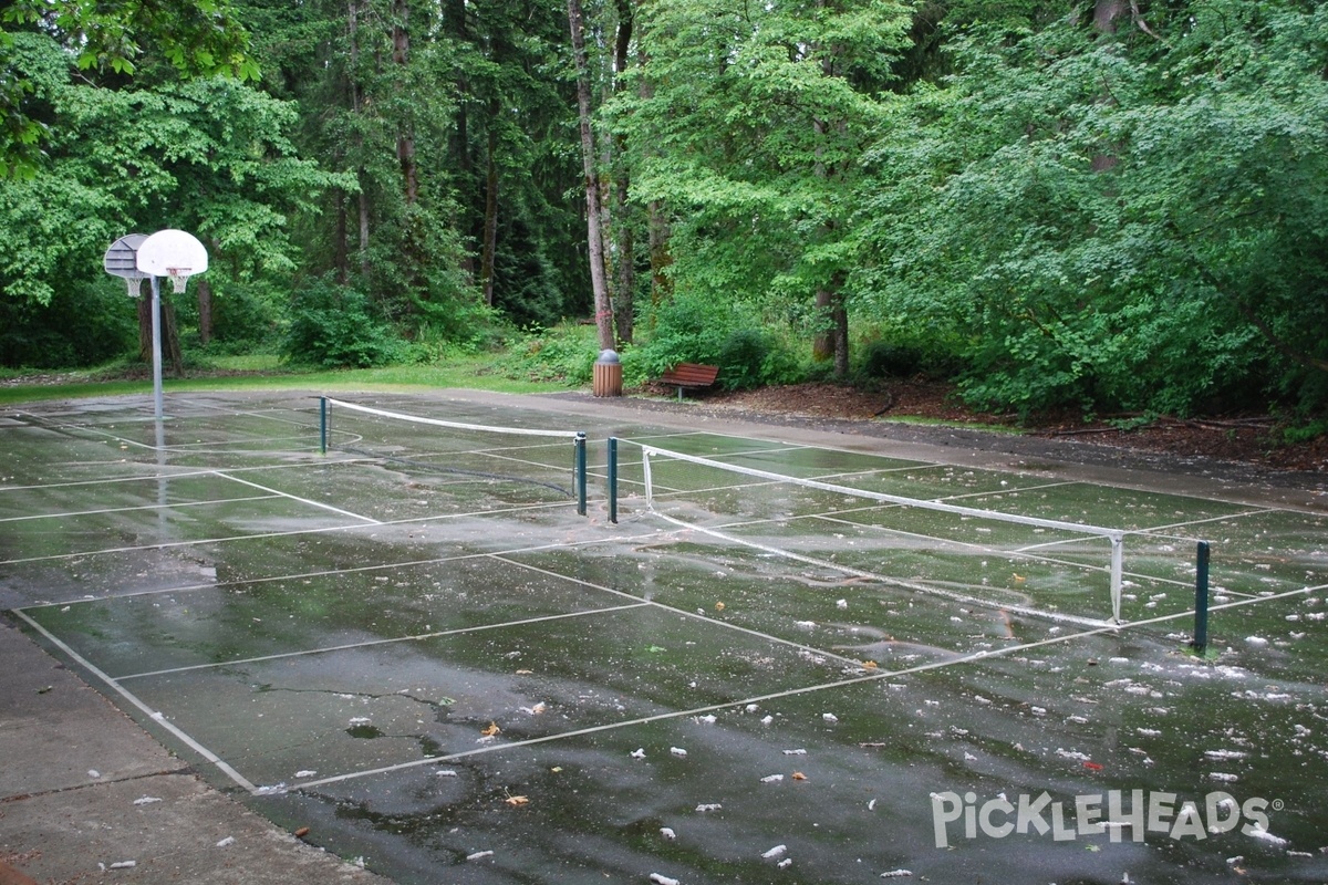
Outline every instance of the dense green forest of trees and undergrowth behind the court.
{"type": "Polygon", "coordinates": [[[1328,430],[1328,8],[0,0],[0,365],[729,387],[1328,430]],[[578,322],[578,320],[580,322],[578,322]]]}

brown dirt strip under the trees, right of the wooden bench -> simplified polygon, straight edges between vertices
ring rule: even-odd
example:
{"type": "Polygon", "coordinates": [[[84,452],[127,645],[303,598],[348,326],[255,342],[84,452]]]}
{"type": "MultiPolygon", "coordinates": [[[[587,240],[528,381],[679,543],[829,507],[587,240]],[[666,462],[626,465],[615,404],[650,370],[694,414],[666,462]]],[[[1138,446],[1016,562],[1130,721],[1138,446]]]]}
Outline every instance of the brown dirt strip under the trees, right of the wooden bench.
{"type": "MultiPolygon", "coordinates": [[[[675,389],[652,390],[669,394],[675,389]]],[[[1274,471],[1328,472],[1328,437],[1287,444],[1279,425],[1267,415],[1220,418],[1158,418],[1086,422],[1060,415],[1033,426],[1019,426],[1013,417],[967,409],[954,389],[930,381],[892,381],[883,391],[834,383],[802,383],[745,391],[701,394],[706,406],[748,414],[785,414],[807,418],[888,421],[926,419],[960,425],[1001,426],[1013,433],[1044,439],[1092,442],[1137,451],[1210,458],[1258,464],[1274,471]],[[1138,425],[1138,426],[1134,426],[1138,425]],[[1122,429],[1126,427],[1126,429],[1122,429]]]]}

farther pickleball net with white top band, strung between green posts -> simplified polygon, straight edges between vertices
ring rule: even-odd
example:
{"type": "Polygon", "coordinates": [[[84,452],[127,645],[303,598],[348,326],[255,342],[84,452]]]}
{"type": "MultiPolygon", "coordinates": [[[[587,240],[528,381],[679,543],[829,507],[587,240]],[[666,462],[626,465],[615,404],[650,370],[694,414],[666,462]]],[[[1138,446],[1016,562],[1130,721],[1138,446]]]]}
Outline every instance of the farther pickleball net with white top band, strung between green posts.
{"type": "Polygon", "coordinates": [[[586,515],[586,434],[448,421],[321,397],[319,447],[380,463],[405,482],[462,492],[510,490],[531,503],[575,500],[586,515]]]}

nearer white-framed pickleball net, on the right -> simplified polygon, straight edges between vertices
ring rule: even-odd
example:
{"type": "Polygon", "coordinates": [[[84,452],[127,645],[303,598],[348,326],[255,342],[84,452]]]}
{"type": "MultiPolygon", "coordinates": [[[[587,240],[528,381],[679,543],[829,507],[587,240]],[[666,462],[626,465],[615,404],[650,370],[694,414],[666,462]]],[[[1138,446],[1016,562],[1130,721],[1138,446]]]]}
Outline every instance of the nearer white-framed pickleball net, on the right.
{"type": "Polygon", "coordinates": [[[963,604],[1121,624],[1125,529],[639,448],[645,511],[693,537],[963,604]]]}

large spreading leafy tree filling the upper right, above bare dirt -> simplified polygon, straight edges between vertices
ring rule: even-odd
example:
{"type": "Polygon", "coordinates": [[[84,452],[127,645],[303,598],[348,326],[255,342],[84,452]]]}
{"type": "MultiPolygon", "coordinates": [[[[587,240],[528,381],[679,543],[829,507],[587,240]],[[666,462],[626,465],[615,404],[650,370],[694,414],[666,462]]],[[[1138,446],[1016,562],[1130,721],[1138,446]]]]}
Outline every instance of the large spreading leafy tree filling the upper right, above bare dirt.
{"type": "Polygon", "coordinates": [[[1109,5],[950,44],[871,155],[862,289],[989,407],[1321,402],[1328,16],[1109,5]]]}

